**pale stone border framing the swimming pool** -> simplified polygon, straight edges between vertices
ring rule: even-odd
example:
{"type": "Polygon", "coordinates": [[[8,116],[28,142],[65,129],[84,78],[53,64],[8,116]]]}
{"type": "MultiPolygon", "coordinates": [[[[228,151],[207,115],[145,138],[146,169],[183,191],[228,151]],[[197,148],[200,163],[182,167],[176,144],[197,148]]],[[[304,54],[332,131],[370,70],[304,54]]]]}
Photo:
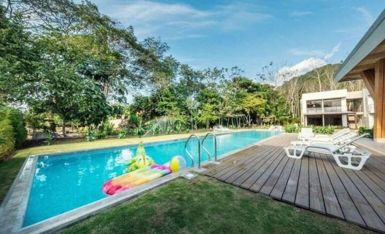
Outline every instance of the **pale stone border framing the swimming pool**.
{"type": "MultiPolygon", "coordinates": [[[[260,130],[260,129],[250,129],[245,131],[268,131],[268,130],[260,130]]],[[[236,131],[241,132],[241,131],[236,131]]],[[[217,133],[216,135],[223,135],[228,134],[232,132],[221,132],[217,133]]],[[[234,133],[234,132],[233,132],[234,133]]],[[[252,143],[250,145],[247,145],[243,148],[233,150],[231,152],[228,152],[226,154],[223,154],[220,158],[223,159],[231,154],[234,154],[238,151],[244,150],[246,148],[252,147],[254,145],[260,144],[261,142],[268,140],[270,138],[276,137],[277,135],[273,135],[270,137],[267,137],[265,139],[262,139],[260,141],[257,141],[255,143],[252,143]]],[[[159,141],[152,141],[148,142],[147,144],[151,143],[159,143],[159,142],[173,142],[178,140],[187,139],[186,137],[178,138],[178,139],[167,139],[167,140],[159,140],[159,141]]],[[[94,201],[92,203],[80,206],[78,208],[69,210],[65,213],[56,215],[54,217],[42,220],[40,222],[37,222],[35,224],[23,227],[24,217],[27,211],[28,201],[29,201],[29,195],[32,187],[33,177],[36,170],[36,164],[38,161],[39,156],[41,155],[49,155],[49,156],[55,156],[55,155],[62,155],[67,153],[73,153],[73,152],[84,152],[84,151],[93,151],[93,150],[100,150],[100,149],[111,149],[111,148],[120,148],[125,146],[132,146],[136,145],[137,143],[129,143],[129,144],[122,144],[119,146],[112,146],[112,147],[96,147],[96,148],[89,148],[89,149],[80,149],[80,150],[66,150],[66,151],[57,151],[57,152],[51,152],[51,153],[41,153],[41,154],[34,154],[27,157],[25,160],[23,166],[21,167],[17,177],[15,178],[10,190],[7,193],[7,196],[5,197],[2,205],[0,206],[0,227],[2,231],[5,231],[6,233],[42,233],[42,232],[52,232],[55,230],[58,230],[60,228],[63,228],[64,226],[67,226],[71,223],[77,222],[79,220],[85,219],[91,215],[94,215],[98,212],[101,212],[105,209],[108,209],[112,206],[115,206],[119,203],[122,203],[126,200],[129,200],[133,197],[136,197],[148,190],[151,190],[159,185],[165,184],[181,175],[184,175],[188,173],[189,171],[203,171],[204,168],[198,169],[197,167],[188,168],[187,170],[180,171],[177,173],[171,173],[169,175],[163,176],[161,178],[158,178],[156,180],[150,181],[146,184],[140,185],[136,188],[122,191],[114,196],[108,196],[106,198],[94,201]]],[[[206,161],[201,164],[201,166],[212,163],[213,161],[206,161]]],[[[218,162],[220,163],[220,162],[218,162]]]]}

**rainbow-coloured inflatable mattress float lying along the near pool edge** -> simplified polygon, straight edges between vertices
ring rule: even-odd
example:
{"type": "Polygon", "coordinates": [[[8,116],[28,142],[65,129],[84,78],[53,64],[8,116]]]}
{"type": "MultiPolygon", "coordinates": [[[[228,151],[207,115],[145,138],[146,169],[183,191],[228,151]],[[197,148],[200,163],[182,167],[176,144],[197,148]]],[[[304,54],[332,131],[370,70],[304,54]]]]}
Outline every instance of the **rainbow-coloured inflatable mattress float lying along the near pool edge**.
{"type": "Polygon", "coordinates": [[[169,173],[171,173],[171,170],[167,166],[151,165],[113,178],[105,182],[102,189],[107,195],[113,195],[169,173]]]}

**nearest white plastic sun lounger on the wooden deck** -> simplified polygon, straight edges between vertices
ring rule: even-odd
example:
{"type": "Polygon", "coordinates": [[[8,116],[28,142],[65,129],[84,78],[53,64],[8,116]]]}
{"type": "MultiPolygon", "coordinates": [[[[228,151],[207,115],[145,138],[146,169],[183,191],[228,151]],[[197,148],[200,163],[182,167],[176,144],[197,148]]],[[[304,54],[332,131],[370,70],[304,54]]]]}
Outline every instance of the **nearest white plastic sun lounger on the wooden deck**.
{"type": "Polygon", "coordinates": [[[350,145],[354,141],[367,135],[369,134],[362,134],[339,146],[334,145],[332,143],[326,143],[324,141],[313,141],[312,144],[305,146],[294,145],[283,148],[285,149],[286,155],[291,158],[300,159],[302,158],[305,152],[330,154],[334,157],[334,160],[336,161],[338,166],[354,170],[360,170],[365,164],[366,160],[370,157],[371,153],[365,150],[358,150],[356,147],[350,147],[350,145]]]}

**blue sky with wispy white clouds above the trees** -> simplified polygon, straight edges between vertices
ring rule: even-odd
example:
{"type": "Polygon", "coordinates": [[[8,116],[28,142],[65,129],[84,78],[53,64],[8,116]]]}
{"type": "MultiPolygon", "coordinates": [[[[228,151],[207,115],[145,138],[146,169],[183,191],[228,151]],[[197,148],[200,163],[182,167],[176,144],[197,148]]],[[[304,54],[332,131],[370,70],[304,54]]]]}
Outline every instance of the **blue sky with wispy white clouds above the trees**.
{"type": "Polygon", "coordinates": [[[251,78],[270,62],[299,73],[340,62],[385,7],[383,0],[92,2],[132,25],[139,40],[160,37],[181,63],[239,66],[251,78]]]}

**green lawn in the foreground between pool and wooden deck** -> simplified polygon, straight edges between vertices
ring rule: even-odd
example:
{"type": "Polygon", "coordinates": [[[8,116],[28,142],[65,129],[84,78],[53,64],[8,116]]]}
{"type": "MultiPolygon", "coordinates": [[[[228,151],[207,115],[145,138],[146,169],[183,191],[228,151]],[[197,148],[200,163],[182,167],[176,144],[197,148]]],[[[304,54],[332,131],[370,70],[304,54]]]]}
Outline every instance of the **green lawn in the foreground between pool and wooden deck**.
{"type": "Polygon", "coordinates": [[[365,233],[267,196],[199,176],[178,178],[61,233],[365,233]]]}

